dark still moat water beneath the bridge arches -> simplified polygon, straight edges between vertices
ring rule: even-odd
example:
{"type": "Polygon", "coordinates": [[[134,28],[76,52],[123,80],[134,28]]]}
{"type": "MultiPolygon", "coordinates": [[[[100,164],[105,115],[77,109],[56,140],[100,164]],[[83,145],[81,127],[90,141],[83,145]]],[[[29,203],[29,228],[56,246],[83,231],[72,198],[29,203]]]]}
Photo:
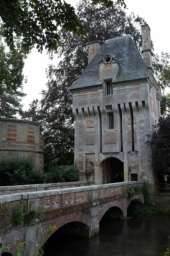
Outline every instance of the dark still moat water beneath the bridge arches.
{"type": "Polygon", "coordinates": [[[100,233],[91,239],[54,234],[45,256],[164,256],[167,248],[170,215],[157,214],[101,220],[100,233]]]}

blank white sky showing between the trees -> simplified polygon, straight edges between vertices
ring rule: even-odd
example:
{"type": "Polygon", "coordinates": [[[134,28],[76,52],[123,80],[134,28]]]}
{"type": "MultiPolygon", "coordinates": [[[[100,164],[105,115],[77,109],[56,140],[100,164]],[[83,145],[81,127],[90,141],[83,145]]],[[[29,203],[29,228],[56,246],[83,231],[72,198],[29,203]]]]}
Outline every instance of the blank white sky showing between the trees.
{"type": "MultiPolygon", "coordinates": [[[[66,2],[75,6],[77,0],[66,0],[66,2]]],[[[150,27],[151,39],[154,42],[154,53],[160,54],[161,52],[170,53],[170,0],[125,0],[128,10],[127,14],[134,12],[141,18],[144,18],[150,27]]],[[[41,90],[46,86],[45,68],[49,64],[56,64],[57,56],[51,62],[46,55],[45,50],[43,53],[38,53],[34,48],[25,60],[24,74],[27,76],[28,82],[24,84],[24,92],[27,96],[24,98],[24,110],[28,110],[32,100],[41,98],[41,90]]]]}

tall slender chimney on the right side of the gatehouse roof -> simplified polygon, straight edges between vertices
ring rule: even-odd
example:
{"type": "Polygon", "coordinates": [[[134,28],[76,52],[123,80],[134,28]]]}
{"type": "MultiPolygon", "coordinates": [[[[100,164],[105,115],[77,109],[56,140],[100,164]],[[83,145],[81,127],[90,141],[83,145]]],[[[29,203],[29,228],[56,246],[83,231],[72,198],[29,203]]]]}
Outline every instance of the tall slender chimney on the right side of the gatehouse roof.
{"type": "Polygon", "coordinates": [[[143,60],[147,68],[153,72],[152,68],[152,50],[151,50],[151,39],[150,39],[150,27],[148,24],[141,26],[142,30],[142,53],[143,60]]]}

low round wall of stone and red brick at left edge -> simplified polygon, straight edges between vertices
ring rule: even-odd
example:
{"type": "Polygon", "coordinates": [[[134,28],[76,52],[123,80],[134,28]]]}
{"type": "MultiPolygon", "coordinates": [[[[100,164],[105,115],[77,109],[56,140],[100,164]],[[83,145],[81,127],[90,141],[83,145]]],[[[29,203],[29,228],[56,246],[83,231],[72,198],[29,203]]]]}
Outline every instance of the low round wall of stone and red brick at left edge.
{"type": "Polygon", "coordinates": [[[0,118],[0,159],[17,155],[31,157],[43,168],[44,140],[37,122],[0,118]]]}

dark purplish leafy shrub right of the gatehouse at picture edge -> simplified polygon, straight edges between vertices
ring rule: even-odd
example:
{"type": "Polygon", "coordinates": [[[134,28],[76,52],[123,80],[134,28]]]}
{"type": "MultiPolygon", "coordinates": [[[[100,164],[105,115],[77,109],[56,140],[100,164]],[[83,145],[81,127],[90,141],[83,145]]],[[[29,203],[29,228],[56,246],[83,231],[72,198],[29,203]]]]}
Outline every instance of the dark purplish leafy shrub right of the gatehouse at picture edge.
{"type": "Polygon", "coordinates": [[[170,114],[160,117],[154,133],[148,135],[146,144],[152,149],[152,165],[158,180],[170,174],[170,114]]]}

